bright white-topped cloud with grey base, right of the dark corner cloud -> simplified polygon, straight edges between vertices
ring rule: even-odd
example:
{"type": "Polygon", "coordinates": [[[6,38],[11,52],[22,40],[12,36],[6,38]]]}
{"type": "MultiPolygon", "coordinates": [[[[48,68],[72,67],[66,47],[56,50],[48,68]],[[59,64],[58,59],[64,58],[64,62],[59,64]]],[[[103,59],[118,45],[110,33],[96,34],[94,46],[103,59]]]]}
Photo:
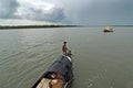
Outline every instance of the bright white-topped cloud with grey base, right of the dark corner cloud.
{"type": "Polygon", "coordinates": [[[20,7],[16,15],[21,19],[49,22],[64,22],[65,20],[63,8],[57,7],[53,2],[47,2],[47,0],[21,0],[18,2],[20,2],[20,7]]]}

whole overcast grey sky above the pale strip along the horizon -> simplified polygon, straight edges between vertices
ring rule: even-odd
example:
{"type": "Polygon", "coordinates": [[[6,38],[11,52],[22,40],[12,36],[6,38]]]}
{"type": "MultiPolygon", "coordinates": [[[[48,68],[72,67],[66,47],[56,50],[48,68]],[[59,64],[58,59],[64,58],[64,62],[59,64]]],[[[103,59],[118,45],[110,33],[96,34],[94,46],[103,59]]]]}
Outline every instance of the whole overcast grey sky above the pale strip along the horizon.
{"type": "Polygon", "coordinates": [[[133,0],[0,0],[0,19],[86,25],[133,24],[133,0]]]}

